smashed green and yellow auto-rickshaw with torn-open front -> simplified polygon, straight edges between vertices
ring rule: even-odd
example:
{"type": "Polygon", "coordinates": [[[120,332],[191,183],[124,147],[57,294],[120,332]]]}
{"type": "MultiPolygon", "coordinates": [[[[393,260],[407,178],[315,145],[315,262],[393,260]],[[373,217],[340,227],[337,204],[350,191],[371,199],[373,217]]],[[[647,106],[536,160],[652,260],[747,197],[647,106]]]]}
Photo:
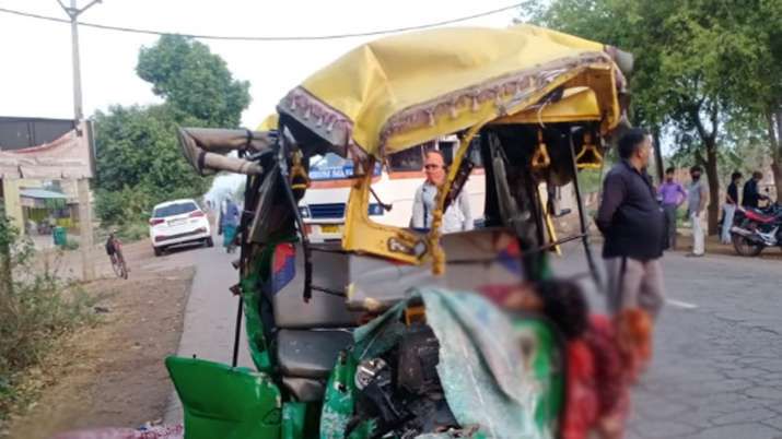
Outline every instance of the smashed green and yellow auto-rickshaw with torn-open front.
{"type": "Polygon", "coordinates": [[[273,130],[182,129],[202,175],[247,175],[234,365],[166,359],[185,437],[560,437],[561,329],[487,292],[552,277],[548,253],[565,241],[582,240],[592,261],[575,176],[602,165],[622,124],[631,62],[529,25],[409,33],[314,73],[282,98],[273,130]],[[375,166],[451,134],[432,227],[373,222],[375,166]],[[352,189],[342,240],[311,244],[297,202],[310,157],[326,153],[353,162],[352,189]],[[482,224],[442,234],[476,169],[482,224]],[[581,227],[557,238],[540,188],[568,183],[581,227]],[[255,370],[235,367],[242,319],[255,370]]]}

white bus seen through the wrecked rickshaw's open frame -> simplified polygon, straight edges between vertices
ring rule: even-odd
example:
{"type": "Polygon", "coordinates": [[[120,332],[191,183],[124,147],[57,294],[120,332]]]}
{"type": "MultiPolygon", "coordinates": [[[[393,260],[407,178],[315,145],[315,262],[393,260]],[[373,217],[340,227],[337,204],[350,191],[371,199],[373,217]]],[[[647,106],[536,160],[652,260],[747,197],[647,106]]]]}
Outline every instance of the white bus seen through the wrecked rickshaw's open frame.
{"type": "MultiPolygon", "coordinates": [[[[385,211],[374,198],[370,198],[370,217],[386,225],[407,227],[412,217],[412,202],[416,191],[423,183],[424,152],[439,150],[446,164],[451,164],[458,146],[455,137],[440,139],[388,156],[387,162],[375,167],[372,189],[390,211],[385,211]]],[[[469,157],[477,164],[465,189],[469,194],[472,217],[480,222],[483,216],[486,193],[483,168],[477,144],[469,157]]],[[[345,210],[353,179],[353,164],[336,154],[312,157],[310,161],[311,186],[299,204],[306,232],[314,242],[342,238],[345,210]]]]}

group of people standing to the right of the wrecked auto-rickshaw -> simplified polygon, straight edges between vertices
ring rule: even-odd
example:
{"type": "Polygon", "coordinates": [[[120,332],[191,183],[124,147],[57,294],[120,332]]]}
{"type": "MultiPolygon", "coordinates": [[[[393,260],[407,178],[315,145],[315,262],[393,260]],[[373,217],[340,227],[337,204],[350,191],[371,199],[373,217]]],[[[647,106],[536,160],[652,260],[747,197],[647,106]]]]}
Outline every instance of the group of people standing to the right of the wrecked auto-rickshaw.
{"type": "MultiPolygon", "coordinates": [[[[655,188],[646,173],[652,155],[652,139],[643,129],[629,130],[620,140],[620,161],[606,175],[603,200],[596,224],[605,237],[603,258],[608,274],[608,309],[640,308],[655,318],[664,302],[660,258],[665,249],[676,248],[677,216],[687,204],[692,224],[692,250],[688,256],[705,252],[703,218],[709,189],[701,179],[700,166],[690,168],[690,182],[685,188],[676,181],[675,169],[665,171],[665,181],[655,188]]],[[[744,185],[739,199],[742,174],[733,173],[723,204],[721,239],[731,241],[731,226],[737,206],[758,207],[768,197],[760,193],[761,173],[744,185]]]]}

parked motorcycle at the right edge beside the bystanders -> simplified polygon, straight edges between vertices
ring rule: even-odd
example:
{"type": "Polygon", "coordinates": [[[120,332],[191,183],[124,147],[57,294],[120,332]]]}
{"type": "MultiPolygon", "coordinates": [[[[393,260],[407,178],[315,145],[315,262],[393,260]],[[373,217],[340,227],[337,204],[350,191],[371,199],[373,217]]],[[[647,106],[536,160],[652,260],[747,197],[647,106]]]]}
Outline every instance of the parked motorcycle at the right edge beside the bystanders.
{"type": "Polygon", "coordinates": [[[739,207],[733,224],[731,236],[738,254],[755,257],[767,247],[782,247],[782,204],[739,207]]]}

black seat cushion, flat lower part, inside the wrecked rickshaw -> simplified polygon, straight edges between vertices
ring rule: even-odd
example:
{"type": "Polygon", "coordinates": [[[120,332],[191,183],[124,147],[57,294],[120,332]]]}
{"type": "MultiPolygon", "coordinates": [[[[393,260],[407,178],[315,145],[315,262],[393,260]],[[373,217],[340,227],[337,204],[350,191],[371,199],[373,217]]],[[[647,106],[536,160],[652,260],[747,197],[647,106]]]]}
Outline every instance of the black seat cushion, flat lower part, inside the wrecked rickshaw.
{"type": "Polygon", "coordinates": [[[339,352],[353,342],[346,330],[280,330],[277,360],[287,377],[328,378],[339,352]]]}

